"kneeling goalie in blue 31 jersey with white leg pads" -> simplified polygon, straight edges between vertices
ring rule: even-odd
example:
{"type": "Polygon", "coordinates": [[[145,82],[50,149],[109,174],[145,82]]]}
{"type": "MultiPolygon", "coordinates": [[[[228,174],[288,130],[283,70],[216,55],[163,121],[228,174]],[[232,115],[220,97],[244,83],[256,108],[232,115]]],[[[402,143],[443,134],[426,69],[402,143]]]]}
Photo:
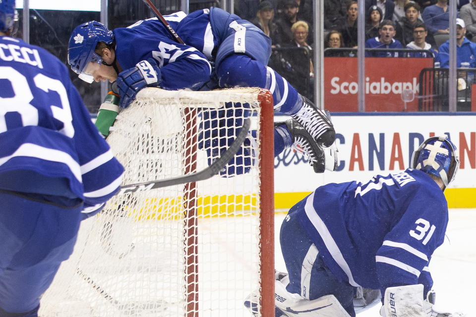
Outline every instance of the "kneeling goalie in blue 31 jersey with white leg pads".
{"type": "MultiPolygon", "coordinates": [[[[289,275],[276,274],[276,316],[354,317],[361,287],[379,290],[383,317],[464,316],[433,306],[428,270],[448,223],[443,191],[458,166],[453,143],[431,137],[404,172],[323,185],[298,202],[281,225],[289,275]]],[[[255,303],[252,294],[245,306],[253,312],[255,303]]]]}

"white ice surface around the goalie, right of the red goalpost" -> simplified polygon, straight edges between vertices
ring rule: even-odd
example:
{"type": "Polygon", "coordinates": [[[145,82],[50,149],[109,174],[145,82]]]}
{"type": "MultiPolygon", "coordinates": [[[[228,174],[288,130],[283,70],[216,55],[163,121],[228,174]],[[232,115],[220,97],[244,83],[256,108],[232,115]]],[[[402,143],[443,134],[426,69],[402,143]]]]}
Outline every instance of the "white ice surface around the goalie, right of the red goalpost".
{"type": "MultiPolygon", "coordinates": [[[[275,218],[276,268],[286,271],[279,248],[279,226],[285,214],[275,218]]],[[[437,307],[476,317],[473,306],[476,277],[476,209],[451,209],[446,239],[433,254],[429,269],[436,291],[437,307]]],[[[380,305],[357,314],[357,317],[378,317],[380,305]]]]}

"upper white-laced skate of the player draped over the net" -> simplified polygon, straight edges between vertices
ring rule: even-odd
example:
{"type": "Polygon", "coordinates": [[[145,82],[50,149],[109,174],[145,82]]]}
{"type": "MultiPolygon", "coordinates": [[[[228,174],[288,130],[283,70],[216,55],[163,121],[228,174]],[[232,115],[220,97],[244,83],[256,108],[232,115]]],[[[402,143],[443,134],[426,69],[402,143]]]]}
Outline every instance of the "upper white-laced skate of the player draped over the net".
{"type": "Polygon", "coordinates": [[[331,146],[336,139],[336,131],[329,111],[319,109],[304,96],[300,97],[302,107],[292,117],[310,134],[315,143],[326,148],[331,146]]]}

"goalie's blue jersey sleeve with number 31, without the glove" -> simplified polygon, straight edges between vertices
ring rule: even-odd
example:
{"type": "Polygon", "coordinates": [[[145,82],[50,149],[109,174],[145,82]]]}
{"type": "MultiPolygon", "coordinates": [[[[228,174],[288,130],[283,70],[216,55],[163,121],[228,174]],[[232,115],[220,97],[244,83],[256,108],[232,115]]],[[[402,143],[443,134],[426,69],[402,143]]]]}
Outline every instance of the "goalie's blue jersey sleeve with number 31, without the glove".
{"type": "MultiPolygon", "coordinates": [[[[382,297],[385,288],[414,285],[443,241],[448,223],[448,209],[441,192],[409,182],[406,210],[391,225],[377,250],[375,262],[382,297]]],[[[426,285],[430,288],[432,285],[426,285]]]]}

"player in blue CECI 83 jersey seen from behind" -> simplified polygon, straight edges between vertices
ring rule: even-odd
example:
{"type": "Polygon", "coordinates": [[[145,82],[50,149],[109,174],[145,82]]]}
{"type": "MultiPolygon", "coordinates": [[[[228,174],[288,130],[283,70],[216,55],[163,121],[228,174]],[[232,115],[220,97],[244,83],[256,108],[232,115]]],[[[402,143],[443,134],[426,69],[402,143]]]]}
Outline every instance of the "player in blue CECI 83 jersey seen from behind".
{"type": "Polygon", "coordinates": [[[10,37],[15,14],[15,0],[0,0],[0,316],[37,317],[80,221],[123,168],[63,63],[10,37]]]}

